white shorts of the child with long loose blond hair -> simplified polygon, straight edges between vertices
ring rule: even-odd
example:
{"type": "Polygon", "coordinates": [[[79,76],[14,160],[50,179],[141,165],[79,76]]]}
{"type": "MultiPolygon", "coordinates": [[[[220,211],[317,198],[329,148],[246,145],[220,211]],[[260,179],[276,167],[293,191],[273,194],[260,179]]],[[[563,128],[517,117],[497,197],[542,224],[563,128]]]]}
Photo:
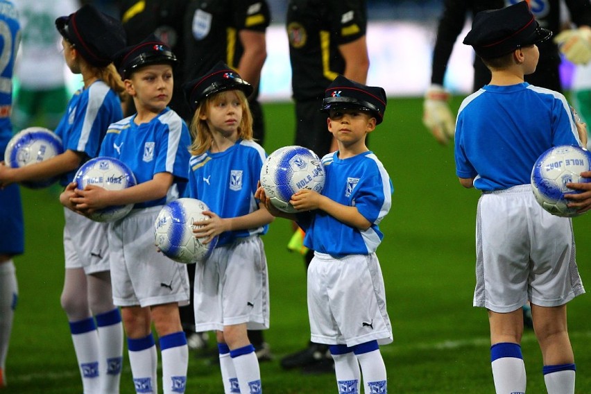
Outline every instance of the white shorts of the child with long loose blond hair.
{"type": "Polygon", "coordinates": [[[196,332],[242,323],[248,329],[269,327],[267,260],[260,237],[218,246],[205,262],[196,264],[196,332]]]}

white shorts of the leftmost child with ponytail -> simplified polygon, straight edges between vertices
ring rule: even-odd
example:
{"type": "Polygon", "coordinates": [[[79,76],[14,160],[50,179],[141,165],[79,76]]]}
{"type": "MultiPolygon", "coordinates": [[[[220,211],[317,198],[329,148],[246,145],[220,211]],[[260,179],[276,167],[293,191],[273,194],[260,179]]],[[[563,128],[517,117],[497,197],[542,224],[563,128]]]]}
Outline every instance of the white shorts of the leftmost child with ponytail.
{"type": "Polygon", "coordinates": [[[86,275],[109,271],[108,223],[99,223],[64,208],[66,268],[84,268],[86,275]]]}

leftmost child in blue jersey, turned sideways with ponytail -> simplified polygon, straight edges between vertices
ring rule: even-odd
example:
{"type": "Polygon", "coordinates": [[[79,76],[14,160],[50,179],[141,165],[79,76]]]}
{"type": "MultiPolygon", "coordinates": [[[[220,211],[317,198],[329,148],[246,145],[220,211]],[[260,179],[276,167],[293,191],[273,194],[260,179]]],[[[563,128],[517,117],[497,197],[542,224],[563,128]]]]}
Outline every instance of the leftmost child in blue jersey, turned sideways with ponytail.
{"type": "MultiPolygon", "coordinates": [[[[55,21],[65,61],[84,86],[74,94],[55,133],[65,152],[22,168],[0,166],[0,185],[60,176],[68,185],[85,161],[96,157],[110,123],[123,117],[123,83],[112,57],[125,46],[120,22],[93,6],[55,21]]],[[[119,393],[123,328],[112,302],[107,225],[64,209],[65,280],[61,296],[85,393],[119,393]]]]}

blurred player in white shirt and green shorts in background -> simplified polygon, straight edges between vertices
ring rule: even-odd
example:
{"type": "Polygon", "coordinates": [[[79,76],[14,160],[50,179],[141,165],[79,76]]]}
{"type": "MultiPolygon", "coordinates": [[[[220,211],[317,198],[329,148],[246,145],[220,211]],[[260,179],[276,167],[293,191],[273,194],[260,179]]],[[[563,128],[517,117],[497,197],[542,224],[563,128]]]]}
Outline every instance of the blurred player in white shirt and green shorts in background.
{"type": "Polygon", "coordinates": [[[12,121],[17,130],[28,126],[54,130],[69,99],[62,38],[55,30],[55,19],[70,15],[79,4],[76,0],[19,0],[15,6],[22,40],[15,67],[19,90],[12,121]]]}

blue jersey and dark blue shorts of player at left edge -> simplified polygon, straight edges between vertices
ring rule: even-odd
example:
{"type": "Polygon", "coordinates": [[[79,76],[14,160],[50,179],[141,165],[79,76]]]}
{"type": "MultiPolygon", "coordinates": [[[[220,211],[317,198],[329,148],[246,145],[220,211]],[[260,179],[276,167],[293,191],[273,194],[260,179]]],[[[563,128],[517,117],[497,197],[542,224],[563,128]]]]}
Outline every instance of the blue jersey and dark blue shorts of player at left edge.
{"type": "MultiPolygon", "coordinates": [[[[20,25],[18,13],[10,1],[0,0],[0,21],[8,31],[2,34],[0,49],[6,60],[0,70],[0,157],[12,137],[10,111],[12,109],[12,70],[19,48],[20,25]]],[[[3,159],[0,159],[3,160],[3,159]]],[[[0,189],[0,221],[3,234],[0,237],[0,255],[20,255],[24,251],[24,224],[21,196],[18,185],[0,189]]]]}

